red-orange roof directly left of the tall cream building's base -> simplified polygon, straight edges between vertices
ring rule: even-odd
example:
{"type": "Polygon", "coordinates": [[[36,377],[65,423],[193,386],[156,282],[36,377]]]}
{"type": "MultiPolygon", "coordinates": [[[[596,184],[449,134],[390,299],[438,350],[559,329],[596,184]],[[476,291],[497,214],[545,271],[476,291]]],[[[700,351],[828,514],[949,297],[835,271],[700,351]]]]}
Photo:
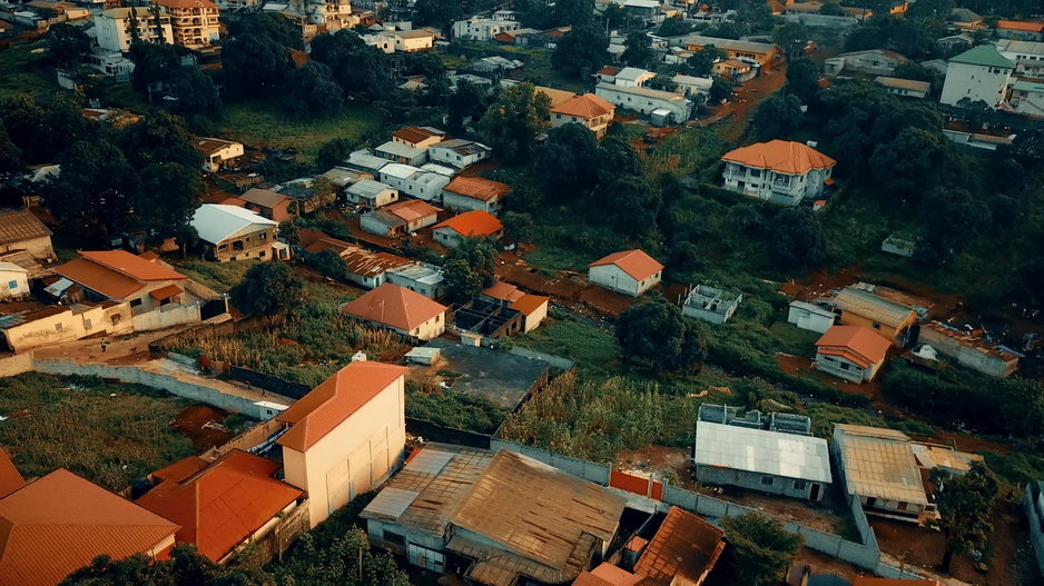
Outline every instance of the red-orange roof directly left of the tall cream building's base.
{"type": "MultiPolygon", "coordinates": [[[[180,475],[170,475],[137,504],[181,525],[178,543],[195,544],[219,562],[304,493],[272,477],[280,465],[240,450],[214,463],[198,457],[180,475]],[[198,464],[201,469],[194,470],[198,464]]],[[[181,461],[185,461],[181,460],[181,461]]]]}

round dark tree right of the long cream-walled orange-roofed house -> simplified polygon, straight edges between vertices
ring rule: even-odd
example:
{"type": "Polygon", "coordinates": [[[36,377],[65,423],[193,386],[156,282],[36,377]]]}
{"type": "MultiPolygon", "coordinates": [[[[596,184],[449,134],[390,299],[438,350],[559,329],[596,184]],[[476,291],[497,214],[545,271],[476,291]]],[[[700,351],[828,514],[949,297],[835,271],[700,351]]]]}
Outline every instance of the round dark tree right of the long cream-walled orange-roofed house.
{"type": "Polygon", "coordinates": [[[243,280],[228,290],[228,296],[244,314],[272,320],[301,305],[304,282],[287,265],[274,260],[250,267],[243,280]]]}

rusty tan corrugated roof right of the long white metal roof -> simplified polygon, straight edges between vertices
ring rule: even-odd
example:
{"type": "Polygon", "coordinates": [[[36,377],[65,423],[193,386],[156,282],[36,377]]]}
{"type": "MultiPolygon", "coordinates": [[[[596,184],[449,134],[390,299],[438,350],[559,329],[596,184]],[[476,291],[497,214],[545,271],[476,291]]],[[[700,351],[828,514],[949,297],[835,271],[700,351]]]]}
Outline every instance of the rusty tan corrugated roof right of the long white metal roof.
{"type": "Polygon", "coordinates": [[[849,494],[925,506],[925,494],[909,436],[894,429],[835,424],[834,438],[849,494]]]}

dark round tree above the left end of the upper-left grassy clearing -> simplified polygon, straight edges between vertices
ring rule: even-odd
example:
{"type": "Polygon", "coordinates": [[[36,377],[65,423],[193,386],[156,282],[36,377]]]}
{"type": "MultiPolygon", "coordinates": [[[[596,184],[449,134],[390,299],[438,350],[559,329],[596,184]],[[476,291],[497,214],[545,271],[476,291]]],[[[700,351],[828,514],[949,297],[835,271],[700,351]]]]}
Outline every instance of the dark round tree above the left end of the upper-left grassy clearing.
{"type": "Polygon", "coordinates": [[[226,85],[242,93],[275,91],[292,68],[289,51],[272,37],[242,36],[221,47],[226,85]]]}

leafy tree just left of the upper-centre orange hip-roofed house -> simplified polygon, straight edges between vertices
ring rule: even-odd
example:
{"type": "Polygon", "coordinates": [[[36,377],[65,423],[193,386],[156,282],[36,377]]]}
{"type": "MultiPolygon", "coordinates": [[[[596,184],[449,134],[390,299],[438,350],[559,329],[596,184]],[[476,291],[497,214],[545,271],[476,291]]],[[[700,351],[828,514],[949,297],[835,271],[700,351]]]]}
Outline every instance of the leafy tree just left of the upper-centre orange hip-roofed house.
{"type": "Polygon", "coordinates": [[[479,132],[506,162],[524,162],[532,155],[536,136],[548,122],[551,99],[532,83],[516,83],[500,92],[479,121],[479,132]]]}

